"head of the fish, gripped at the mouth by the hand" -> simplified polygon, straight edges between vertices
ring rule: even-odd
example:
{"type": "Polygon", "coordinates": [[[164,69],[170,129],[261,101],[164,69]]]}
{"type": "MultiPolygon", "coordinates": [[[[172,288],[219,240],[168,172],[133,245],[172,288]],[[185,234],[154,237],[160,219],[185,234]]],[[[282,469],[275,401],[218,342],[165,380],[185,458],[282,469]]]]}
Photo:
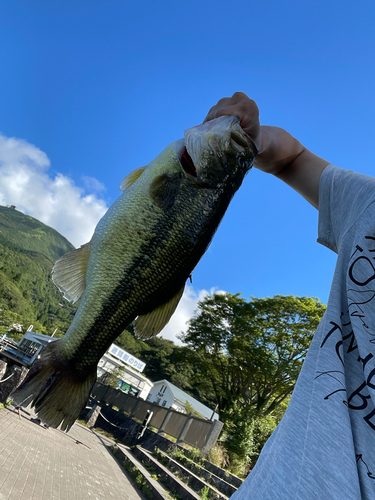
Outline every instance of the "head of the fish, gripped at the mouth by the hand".
{"type": "Polygon", "coordinates": [[[213,189],[241,184],[258,153],[237,116],[221,116],[186,130],[184,146],[179,143],[185,175],[198,186],[213,189]]]}

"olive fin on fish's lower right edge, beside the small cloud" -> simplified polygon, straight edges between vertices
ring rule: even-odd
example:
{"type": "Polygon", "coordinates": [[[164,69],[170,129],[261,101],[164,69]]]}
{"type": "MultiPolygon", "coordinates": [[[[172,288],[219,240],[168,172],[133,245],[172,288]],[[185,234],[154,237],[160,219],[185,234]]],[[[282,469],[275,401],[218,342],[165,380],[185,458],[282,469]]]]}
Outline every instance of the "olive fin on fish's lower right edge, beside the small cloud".
{"type": "Polygon", "coordinates": [[[150,339],[161,332],[175,312],[182,294],[184,293],[184,288],[185,285],[165,304],[162,304],[148,314],[138,316],[134,325],[134,331],[137,337],[141,339],[150,339]]]}

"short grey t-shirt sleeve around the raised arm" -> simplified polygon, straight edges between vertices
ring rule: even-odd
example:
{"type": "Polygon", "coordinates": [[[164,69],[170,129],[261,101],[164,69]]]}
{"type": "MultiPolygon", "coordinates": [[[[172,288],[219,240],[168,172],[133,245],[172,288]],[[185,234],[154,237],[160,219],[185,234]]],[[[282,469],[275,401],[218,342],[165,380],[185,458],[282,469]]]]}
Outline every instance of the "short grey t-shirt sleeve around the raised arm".
{"type": "Polygon", "coordinates": [[[319,183],[318,242],[338,253],[349,229],[375,201],[375,178],[328,165],[319,183]]]}

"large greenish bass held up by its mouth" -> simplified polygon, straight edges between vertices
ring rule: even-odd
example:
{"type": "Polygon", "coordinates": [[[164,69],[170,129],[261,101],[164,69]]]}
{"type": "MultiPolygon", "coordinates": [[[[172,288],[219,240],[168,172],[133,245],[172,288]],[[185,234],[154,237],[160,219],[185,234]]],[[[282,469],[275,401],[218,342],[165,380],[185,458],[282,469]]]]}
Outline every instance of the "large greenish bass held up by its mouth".
{"type": "Polygon", "coordinates": [[[168,323],[257,152],[237,116],[220,117],[186,130],[123,179],[90,242],[53,267],[55,285],[80,304],[66,334],[13,393],[14,404],[31,403],[43,422],[68,432],[120,333],[134,321],[135,334],[148,339],[168,323]]]}

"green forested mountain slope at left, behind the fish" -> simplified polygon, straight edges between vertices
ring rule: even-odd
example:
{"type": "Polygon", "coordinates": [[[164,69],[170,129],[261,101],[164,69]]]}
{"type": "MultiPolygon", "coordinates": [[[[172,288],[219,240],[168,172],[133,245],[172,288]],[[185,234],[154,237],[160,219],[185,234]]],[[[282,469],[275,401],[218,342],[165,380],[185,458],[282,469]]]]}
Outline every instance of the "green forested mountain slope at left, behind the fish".
{"type": "Polygon", "coordinates": [[[0,334],[9,324],[62,336],[77,305],[51,280],[55,261],[74,246],[60,233],[12,208],[0,206],[0,334]]]}

